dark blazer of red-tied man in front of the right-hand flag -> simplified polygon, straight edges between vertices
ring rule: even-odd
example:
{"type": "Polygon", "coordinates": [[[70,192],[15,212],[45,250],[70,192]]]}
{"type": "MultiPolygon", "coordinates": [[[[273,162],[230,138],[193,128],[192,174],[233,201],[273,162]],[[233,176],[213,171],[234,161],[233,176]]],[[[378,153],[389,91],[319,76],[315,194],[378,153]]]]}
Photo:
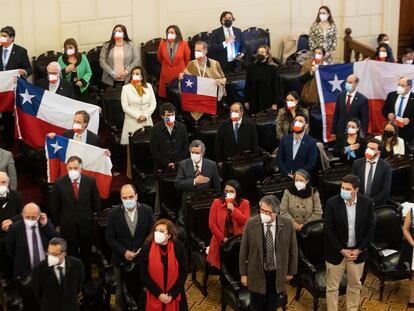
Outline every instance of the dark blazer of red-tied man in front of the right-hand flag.
{"type": "Polygon", "coordinates": [[[345,133],[346,125],[352,118],[358,118],[361,121],[362,131],[367,133],[369,121],[368,98],[360,92],[355,92],[349,112],[346,111],[346,101],[347,91],[338,93],[332,121],[332,134],[339,135],[345,133]]]}

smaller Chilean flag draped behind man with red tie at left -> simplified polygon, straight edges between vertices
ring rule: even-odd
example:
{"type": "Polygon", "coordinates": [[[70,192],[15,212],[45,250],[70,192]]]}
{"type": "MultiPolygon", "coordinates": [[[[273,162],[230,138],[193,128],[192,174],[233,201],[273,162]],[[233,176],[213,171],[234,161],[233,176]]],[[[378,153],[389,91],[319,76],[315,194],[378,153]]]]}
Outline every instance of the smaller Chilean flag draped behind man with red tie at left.
{"type": "Polygon", "coordinates": [[[58,135],[53,139],[46,136],[45,149],[49,183],[54,183],[56,178],[68,173],[66,162],[75,155],[82,159],[82,174],[95,177],[100,197],[108,198],[112,162],[105,154],[105,149],[58,135]]]}

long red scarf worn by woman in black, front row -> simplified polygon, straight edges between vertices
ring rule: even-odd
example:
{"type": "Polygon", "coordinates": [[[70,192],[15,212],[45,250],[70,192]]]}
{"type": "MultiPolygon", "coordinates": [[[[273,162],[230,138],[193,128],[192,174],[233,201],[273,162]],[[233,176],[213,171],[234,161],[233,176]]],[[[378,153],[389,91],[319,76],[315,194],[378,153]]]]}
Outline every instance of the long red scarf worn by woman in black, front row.
{"type": "MultiPolygon", "coordinates": [[[[150,278],[157,284],[162,290],[163,293],[167,293],[177,282],[178,280],[178,262],[177,258],[175,258],[174,252],[174,243],[172,241],[168,241],[167,245],[167,254],[168,254],[168,279],[167,279],[167,289],[164,288],[164,266],[162,265],[161,261],[161,247],[155,243],[154,241],[151,243],[151,248],[149,252],[149,262],[148,262],[148,274],[150,278]]],[[[165,305],[165,309],[163,309],[163,303],[155,297],[153,294],[147,290],[147,311],[179,311],[180,306],[179,302],[181,301],[181,294],[175,299],[172,299],[171,302],[165,305]]]]}

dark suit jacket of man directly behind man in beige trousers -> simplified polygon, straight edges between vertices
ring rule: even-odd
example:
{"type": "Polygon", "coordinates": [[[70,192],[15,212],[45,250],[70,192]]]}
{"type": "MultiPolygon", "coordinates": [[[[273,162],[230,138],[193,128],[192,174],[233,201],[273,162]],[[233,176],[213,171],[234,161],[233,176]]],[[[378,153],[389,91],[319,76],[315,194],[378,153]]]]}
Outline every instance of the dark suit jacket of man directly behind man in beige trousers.
{"type": "MultiPolygon", "coordinates": [[[[366,159],[361,158],[354,161],[352,165],[352,174],[359,177],[361,184],[359,191],[365,193],[365,164],[366,159]]],[[[375,206],[387,204],[391,192],[391,165],[384,159],[379,158],[375,168],[374,178],[372,180],[371,198],[375,206]]]]}

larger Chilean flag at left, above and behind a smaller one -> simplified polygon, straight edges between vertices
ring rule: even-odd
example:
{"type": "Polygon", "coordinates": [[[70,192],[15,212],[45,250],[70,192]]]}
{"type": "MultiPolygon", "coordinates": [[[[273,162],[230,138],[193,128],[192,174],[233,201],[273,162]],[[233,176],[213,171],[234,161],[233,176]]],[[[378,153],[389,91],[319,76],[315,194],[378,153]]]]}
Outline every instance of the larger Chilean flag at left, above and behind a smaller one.
{"type": "Polygon", "coordinates": [[[91,119],[88,130],[98,133],[100,108],[34,86],[18,79],[16,89],[16,136],[33,148],[44,146],[45,135],[62,135],[73,126],[76,111],[91,119]]]}

